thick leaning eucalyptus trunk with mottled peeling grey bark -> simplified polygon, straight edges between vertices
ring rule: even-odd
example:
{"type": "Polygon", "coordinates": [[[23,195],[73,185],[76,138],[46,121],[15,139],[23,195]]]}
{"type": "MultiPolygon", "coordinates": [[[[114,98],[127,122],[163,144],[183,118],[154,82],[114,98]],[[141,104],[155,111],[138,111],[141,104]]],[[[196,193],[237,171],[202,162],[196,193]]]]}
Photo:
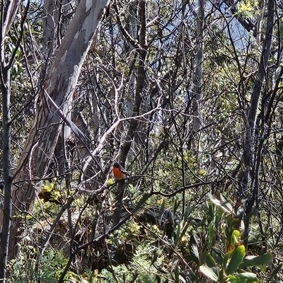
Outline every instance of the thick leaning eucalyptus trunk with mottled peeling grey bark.
{"type": "Polygon", "coordinates": [[[17,243],[24,236],[25,214],[33,208],[35,192],[40,184],[36,180],[45,175],[62,129],[61,118],[54,106],[47,103],[45,91],[66,115],[81,66],[107,2],[81,0],[54,58],[46,89],[42,88],[40,107],[18,163],[12,211],[12,215],[17,214],[17,217],[11,228],[9,258],[18,253],[17,243]]]}

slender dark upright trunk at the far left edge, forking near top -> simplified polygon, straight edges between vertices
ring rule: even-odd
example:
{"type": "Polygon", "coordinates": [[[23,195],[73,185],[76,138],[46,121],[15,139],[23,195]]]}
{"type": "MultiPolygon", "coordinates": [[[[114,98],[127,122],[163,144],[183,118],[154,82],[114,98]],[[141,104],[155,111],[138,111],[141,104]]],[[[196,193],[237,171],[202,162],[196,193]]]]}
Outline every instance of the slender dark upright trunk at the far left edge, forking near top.
{"type": "MultiPolygon", "coordinates": [[[[5,37],[11,28],[18,7],[21,1],[10,1],[8,3],[1,3],[1,52],[0,52],[0,66],[1,66],[1,96],[2,96],[2,111],[3,111],[3,171],[4,171],[4,207],[1,215],[1,253],[0,253],[0,282],[6,282],[6,265],[8,261],[8,244],[10,238],[10,226],[11,226],[11,212],[12,212],[12,170],[11,170],[11,66],[13,64],[13,54],[8,58],[6,62],[6,54],[4,50],[6,48],[5,37]]],[[[29,2],[27,4],[28,9],[29,2]]],[[[26,16],[26,13],[25,13],[26,16]]],[[[23,16],[22,21],[25,21],[23,16]]],[[[19,36],[18,43],[21,41],[23,30],[19,36]]]]}

